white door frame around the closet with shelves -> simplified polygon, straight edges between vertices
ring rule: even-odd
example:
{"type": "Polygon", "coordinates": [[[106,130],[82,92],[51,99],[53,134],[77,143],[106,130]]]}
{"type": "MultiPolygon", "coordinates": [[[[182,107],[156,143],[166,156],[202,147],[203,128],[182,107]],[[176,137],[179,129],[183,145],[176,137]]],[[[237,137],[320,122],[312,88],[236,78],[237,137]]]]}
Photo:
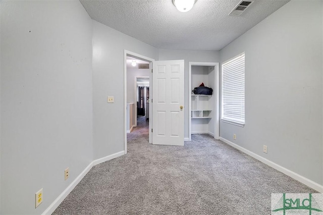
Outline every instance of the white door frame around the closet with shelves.
{"type": "Polygon", "coordinates": [[[214,63],[214,62],[188,62],[188,86],[189,86],[189,94],[188,94],[188,99],[189,99],[189,118],[188,118],[188,130],[189,130],[189,141],[191,141],[192,138],[192,119],[191,119],[191,112],[192,112],[192,96],[191,96],[191,88],[192,88],[192,66],[210,66],[213,67],[214,69],[216,69],[216,74],[214,83],[216,83],[216,87],[215,87],[215,92],[214,95],[216,96],[216,103],[214,105],[214,112],[216,113],[216,122],[214,125],[214,139],[219,140],[220,138],[220,67],[219,67],[219,63],[214,63]]]}

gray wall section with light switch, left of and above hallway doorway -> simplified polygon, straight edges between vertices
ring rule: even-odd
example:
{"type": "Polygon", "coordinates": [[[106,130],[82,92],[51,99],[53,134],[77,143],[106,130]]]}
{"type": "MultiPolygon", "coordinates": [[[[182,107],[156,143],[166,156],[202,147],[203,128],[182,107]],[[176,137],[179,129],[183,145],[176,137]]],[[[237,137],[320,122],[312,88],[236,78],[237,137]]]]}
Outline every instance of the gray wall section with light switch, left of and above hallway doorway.
{"type": "Polygon", "coordinates": [[[124,49],[157,60],[153,46],[93,21],[94,159],[124,150],[124,49]],[[115,96],[107,103],[108,95],[115,96]]]}

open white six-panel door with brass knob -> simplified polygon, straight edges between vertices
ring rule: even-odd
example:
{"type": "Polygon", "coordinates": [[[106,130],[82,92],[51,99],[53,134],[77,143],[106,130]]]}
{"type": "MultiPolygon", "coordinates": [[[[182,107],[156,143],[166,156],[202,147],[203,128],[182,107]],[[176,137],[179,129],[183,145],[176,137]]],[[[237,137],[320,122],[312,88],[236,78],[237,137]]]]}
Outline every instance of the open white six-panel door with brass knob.
{"type": "Polygon", "coordinates": [[[153,62],[152,99],[152,143],[184,145],[184,60],[153,62]]]}

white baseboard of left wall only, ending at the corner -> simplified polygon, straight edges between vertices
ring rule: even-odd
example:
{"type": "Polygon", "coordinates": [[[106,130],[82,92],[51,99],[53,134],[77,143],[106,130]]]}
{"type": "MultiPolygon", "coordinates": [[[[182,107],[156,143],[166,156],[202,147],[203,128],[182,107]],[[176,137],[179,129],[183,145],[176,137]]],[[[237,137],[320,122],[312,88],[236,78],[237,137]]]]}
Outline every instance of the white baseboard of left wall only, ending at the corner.
{"type": "Polygon", "coordinates": [[[82,173],[76,177],[76,179],[57,197],[42,214],[51,214],[56,208],[62,203],[62,201],[70,194],[70,192],[76,187],[76,185],[82,180],[82,178],[90,171],[93,167],[91,162],[82,173]]]}

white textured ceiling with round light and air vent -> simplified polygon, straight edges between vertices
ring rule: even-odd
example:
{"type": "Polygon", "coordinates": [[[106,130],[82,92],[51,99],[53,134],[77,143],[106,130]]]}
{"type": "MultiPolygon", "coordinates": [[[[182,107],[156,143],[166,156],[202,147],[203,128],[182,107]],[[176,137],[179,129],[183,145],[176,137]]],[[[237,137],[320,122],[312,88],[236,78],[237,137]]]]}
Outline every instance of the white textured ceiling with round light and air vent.
{"type": "Polygon", "coordinates": [[[256,0],[238,17],[240,0],[197,0],[179,12],[172,0],[80,0],[89,16],[157,48],[220,50],[290,0],[256,0]]]}

